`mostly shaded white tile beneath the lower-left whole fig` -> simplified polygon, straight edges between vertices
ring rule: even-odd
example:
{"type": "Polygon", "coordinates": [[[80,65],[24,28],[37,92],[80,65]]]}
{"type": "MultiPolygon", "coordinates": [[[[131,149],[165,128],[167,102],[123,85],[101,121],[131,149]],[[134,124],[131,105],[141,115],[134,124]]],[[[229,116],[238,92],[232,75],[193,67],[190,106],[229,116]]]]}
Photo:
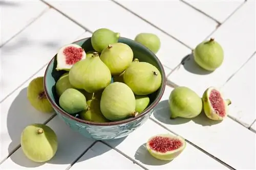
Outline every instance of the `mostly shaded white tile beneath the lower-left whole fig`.
{"type": "MultiPolygon", "coordinates": [[[[3,164],[2,169],[66,169],[79,155],[86,151],[94,142],[71,130],[61,118],[55,116],[48,124],[58,138],[58,149],[55,156],[46,163],[29,160],[19,148],[3,164]]],[[[84,161],[81,159],[79,161],[84,161]]]]}

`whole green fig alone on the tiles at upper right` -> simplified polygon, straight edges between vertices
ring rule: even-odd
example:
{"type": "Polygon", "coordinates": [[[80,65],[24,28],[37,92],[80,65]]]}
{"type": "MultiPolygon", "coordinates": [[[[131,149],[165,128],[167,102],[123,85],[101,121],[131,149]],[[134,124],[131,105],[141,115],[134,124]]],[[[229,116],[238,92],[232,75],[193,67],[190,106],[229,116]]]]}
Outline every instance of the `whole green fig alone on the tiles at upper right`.
{"type": "Polygon", "coordinates": [[[214,71],[220,67],[224,60],[223,49],[214,38],[198,44],[193,54],[195,62],[208,71],[214,71]]]}

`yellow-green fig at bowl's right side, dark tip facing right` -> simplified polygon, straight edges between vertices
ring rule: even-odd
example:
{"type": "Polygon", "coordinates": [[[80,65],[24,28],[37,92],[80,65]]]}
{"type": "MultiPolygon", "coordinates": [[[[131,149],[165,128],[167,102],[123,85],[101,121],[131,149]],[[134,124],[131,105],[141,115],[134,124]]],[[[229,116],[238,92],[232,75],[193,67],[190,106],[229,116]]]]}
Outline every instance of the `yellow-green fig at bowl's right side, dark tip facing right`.
{"type": "Polygon", "coordinates": [[[123,75],[127,84],[137,95],[147,95],[159,89],[162,82],[160,71],[147,62],[132,62],[123,75]]]}

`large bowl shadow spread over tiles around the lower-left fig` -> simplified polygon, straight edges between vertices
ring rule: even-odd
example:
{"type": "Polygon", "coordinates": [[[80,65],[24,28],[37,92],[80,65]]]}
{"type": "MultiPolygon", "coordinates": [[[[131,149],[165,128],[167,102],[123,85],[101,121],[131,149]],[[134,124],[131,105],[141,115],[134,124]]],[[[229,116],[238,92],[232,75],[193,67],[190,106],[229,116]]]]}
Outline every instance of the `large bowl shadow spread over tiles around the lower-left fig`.
{"type": "MultiPolygon", "coordinates": [[[[9,151],[9,154],[11,155],[10,159],[13,162],[23,167],[38,167],[46,163],[46,162],[44,163],[33,162],[24,155],[22,148],[20,148],[20,134],[22,133],[23,129],[26,126],[30,125],[31,123],[44,123],[52,116],[54,116],[54,113],[50,113],[50,114],[41,113],[35,110],[30,105],[29,101],[27,100],[27,87],[22,89],[19,92],[19,94],[13,100],[10,106],[10,109],[8,110],[8,116],[7,116],[7,129],[8,129],[9,136],[12,140],[12,142],[9,144],[8,151],[9,151]]],[[[73,163],[77,159],[77,157],[79,157],[79,155],[82,152],[87,151],[88,148],[84,148],[84,149],[81,148],[81,150],[83,151],[79,152],[77,155],[75,155],[75,157],[67,156],[63,154],[63,150],[66,149],[67,144],[63,144],[65,142],[62,142],[62,141],[66,141],[67,143],[67,140],[69,140],[68,142],[70,144],[69,147],[71,148],[70,150],[72,151],[73,150],[72,148],[80,147],[81,140],[84,140],[84,141],[91,140],[92,142],[94,140],[83,137],[78,132],[73,131],[59,117],[54,117],[53,119],[55,121],[54,123],[56,123],[56,125],[53,125],[53,126],[55,127],[54,131],[56,131],[56,134],[58,137],[58,150],[55,156],[47,163],[67,164],[67,167],[68,167],[71,163],[73,163]],[[58,136],[58,131],[60,130],[64,131],[64,133],[58,136]],[[72,133],[71,137],[67,135],[63,135],[63,134],[70,134],[70,133],[72,133]],[[80,138],[80,139],[78,140],[77,138],[80,138]],[[73,139],[76,139],[76,140],[73,140],[73,139]]],[[[53,121],[53,119],[51,121],[53,121]]],[[[125,137],[119,138],[119,139],[113,139],[115,141],[113,143],[113,147],[120,144],[124,139],[125,137]]],[[[90,145],[90,147],[91,146],[92,145],[90,145]]],[[[105,152],[108,152],[109,150],[104,150],[100,153],[97,153],[97,155],[101,155],[105,152]]],[[[91,159],[93,157],[96,157],[97,155],[81,157],[78,160],[78,162],[91,159]]]]}

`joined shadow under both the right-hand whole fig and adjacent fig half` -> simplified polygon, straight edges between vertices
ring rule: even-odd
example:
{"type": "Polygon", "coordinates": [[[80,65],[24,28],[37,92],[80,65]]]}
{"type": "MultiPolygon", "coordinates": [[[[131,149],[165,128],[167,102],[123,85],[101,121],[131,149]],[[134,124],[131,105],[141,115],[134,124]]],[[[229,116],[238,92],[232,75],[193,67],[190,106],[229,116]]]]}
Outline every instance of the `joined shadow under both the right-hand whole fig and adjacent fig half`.
{"type": "Polygon", "coordinates": [[[211,120],[202,111],[197,117],[195,118],[182,118],[177,117],[174,119],[170,119],[170,115],[172,114],[169,109],[168,100],[161,101],[154,109],[154,117],[159,120],[159,122],[166,124],[166,125],[180,125],[186,124],[192,120],[196,124],[202,126],[211,126],[220,123],[221,121],[211,120]]]}

